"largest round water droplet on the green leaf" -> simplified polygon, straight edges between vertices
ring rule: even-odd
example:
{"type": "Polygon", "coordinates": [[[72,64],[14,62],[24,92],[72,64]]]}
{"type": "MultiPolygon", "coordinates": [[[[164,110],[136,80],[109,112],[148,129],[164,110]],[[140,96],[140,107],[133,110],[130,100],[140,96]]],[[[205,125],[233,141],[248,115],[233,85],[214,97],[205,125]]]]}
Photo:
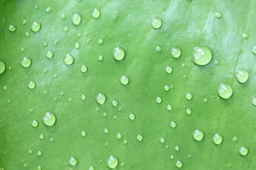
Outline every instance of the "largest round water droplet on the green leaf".
{"type": "Polygon", "coordinates": [[[212,59],[212,51],[206,46],[195,47],[192,51],[192,62],[196,65],[207,65],[212,59]]]}

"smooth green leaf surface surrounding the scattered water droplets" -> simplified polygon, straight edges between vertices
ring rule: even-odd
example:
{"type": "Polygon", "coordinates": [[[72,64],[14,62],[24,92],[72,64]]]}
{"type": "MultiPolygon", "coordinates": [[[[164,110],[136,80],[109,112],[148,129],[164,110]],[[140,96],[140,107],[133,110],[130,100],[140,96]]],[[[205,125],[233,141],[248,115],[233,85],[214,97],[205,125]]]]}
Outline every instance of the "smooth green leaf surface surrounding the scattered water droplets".
{"type": "Polygon", "coordinates": [[[20,170],[27,164],[31,170],[39,165],[43,170],[103,170],[108,169],[106,160],[113,155],[119,160],[116,169],[175,169],[179,160],[185,170],[229,166],[253,170],[256,56],[251,48],[256,44],[255,9],[255,0],[2,0],[0,60],[6,71],[0,74],[0,168],[20,170]],[[52,9],[49,14],[47,7],[52,9]],[[97,19],[91,17],[94,8],[101,12],[97,19]],[[215,17],[215,12],[222,16],[215,17]],[[66,19],[61,19],[61,13],[66,19]],[[81,15],[79,25],[71,20],[76,13],[81,15]],[[159,29],[151,27],[156,17],[162,20],[159,29]],[[33,22],[41,23],[38,32],[30,30],[33,22]],[[11,32],[9,25],[17,29],[11,32]],[[242,37],[244,33],[249,33],[248,39],[242,37]],[[99,39],[104,43],[99,44],[99,39]],[[192,62],[192,50],[198,45],[212,51],[212,60],[205,66],[192,62]],[[156,51],[157,46],[161,52],[156,51]],[[112,57],[116,47],[125,51],[120,61],[112,57]],[[172,48],[181,50],[179,58],[171,57],[172,48]],[[47,58],[47,51],[52,51],[53,57],[47,58]],[[71,65],[63,62],[67,54],[74,57],[71,65]],[[32,59],[27,68],[20,65],[23,57],[32,59]],[[82,65],[87,72],[80,71],[82,65]],[[165,71],[168,65],[173,69],[170,74],[165,71]],[[236,80],[238,69],[249,72],[247,82],[236,80]],[[129,77],[127,85],[119,82],[122,75],[129,77]],[[36,83],[34,89],[27,87],[29,81],[36,83]],[[222,82],[233,88],[228,99],[218,98],[222,82]],[[174,88],[165,91],[164,85],[174,88]],[[185,98],[188,92],[190,100],[185,98]],[[96,102],[99,93],[106,96],[103,105],[96,102]],[[118,105],[111,105],[112,100],[118,105]],[[172,105],[171,111],[167,105],[172,105]],[[56,115],[54,125],[42,122],[46,112],[56,115]],[[134,120],[129,119],[130,113],[134,120]],[[38,120],[37,127],[32,127],[33,120],[38,120]],[[175,128],[170,126],[172,121],[175,128]],[[104,133],[105,128],[109,133],[104,133]],[[204,132],[201,141],[192,138],[197,129],[204,132]],[[86,136],[81,135],[83,130],[86,136]],[[122,139],[117,139],[118,133],[122,139]],[[223,137],[219,145],[212,142],[215,133],[223,137]],[[44,139],[39,138],[41,134],[44,139]],[[142,141],[137,140],[139,134],[142,141]],[[234,136],[238,142],[233,142],[234,136]],[[161,143],[161,138],[165,142],[161,143]],[[241,146],[248,148],[246,156],[239,154],[241,146]],[[43,153],[41,157],[38,151],[43,153]],[[76,166],[68,164],[70,157],[78,160],[76,166]]]}

